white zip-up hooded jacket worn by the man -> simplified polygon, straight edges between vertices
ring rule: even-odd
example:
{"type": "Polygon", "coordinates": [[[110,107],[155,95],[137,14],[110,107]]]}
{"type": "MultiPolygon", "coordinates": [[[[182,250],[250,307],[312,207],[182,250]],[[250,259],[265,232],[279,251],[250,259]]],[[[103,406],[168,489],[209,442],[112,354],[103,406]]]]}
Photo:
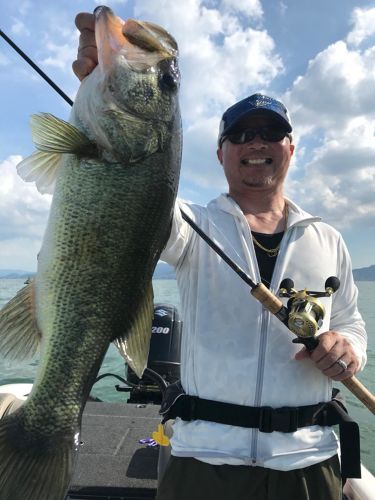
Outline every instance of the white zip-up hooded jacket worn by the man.
{"type": "MultiPolygon", "coordinates": [[[[357,309],[357,288],[341,235],[287,200],[286,228],[271,291],[284,278],[295,289],[324,290],[329,276],[341,286],[320,299],[326,315],[319,333],[335,330],[353,345],[363,368],[366,332],[357,309]]],[[[259,269],[246,218],[229,195],[207,207],[181,208],[255,282],[259,269]]],[[[181,381],[189,395],[247,406],[302,406],[331,399],[332,381],[305,359],[295,335],[250,295],[234,271],[182,219],[176,203],[171,235],[161,256],[176,268],[183,315],[181,381]]],[[[287,299],[285,299],[286,301],[287,299]]],[[[330,427],[264,433],[230,425],[177,419],[172,454],[213,464],[257,465],[277,470],[307,467],[337,453],[330,427]]]]}

